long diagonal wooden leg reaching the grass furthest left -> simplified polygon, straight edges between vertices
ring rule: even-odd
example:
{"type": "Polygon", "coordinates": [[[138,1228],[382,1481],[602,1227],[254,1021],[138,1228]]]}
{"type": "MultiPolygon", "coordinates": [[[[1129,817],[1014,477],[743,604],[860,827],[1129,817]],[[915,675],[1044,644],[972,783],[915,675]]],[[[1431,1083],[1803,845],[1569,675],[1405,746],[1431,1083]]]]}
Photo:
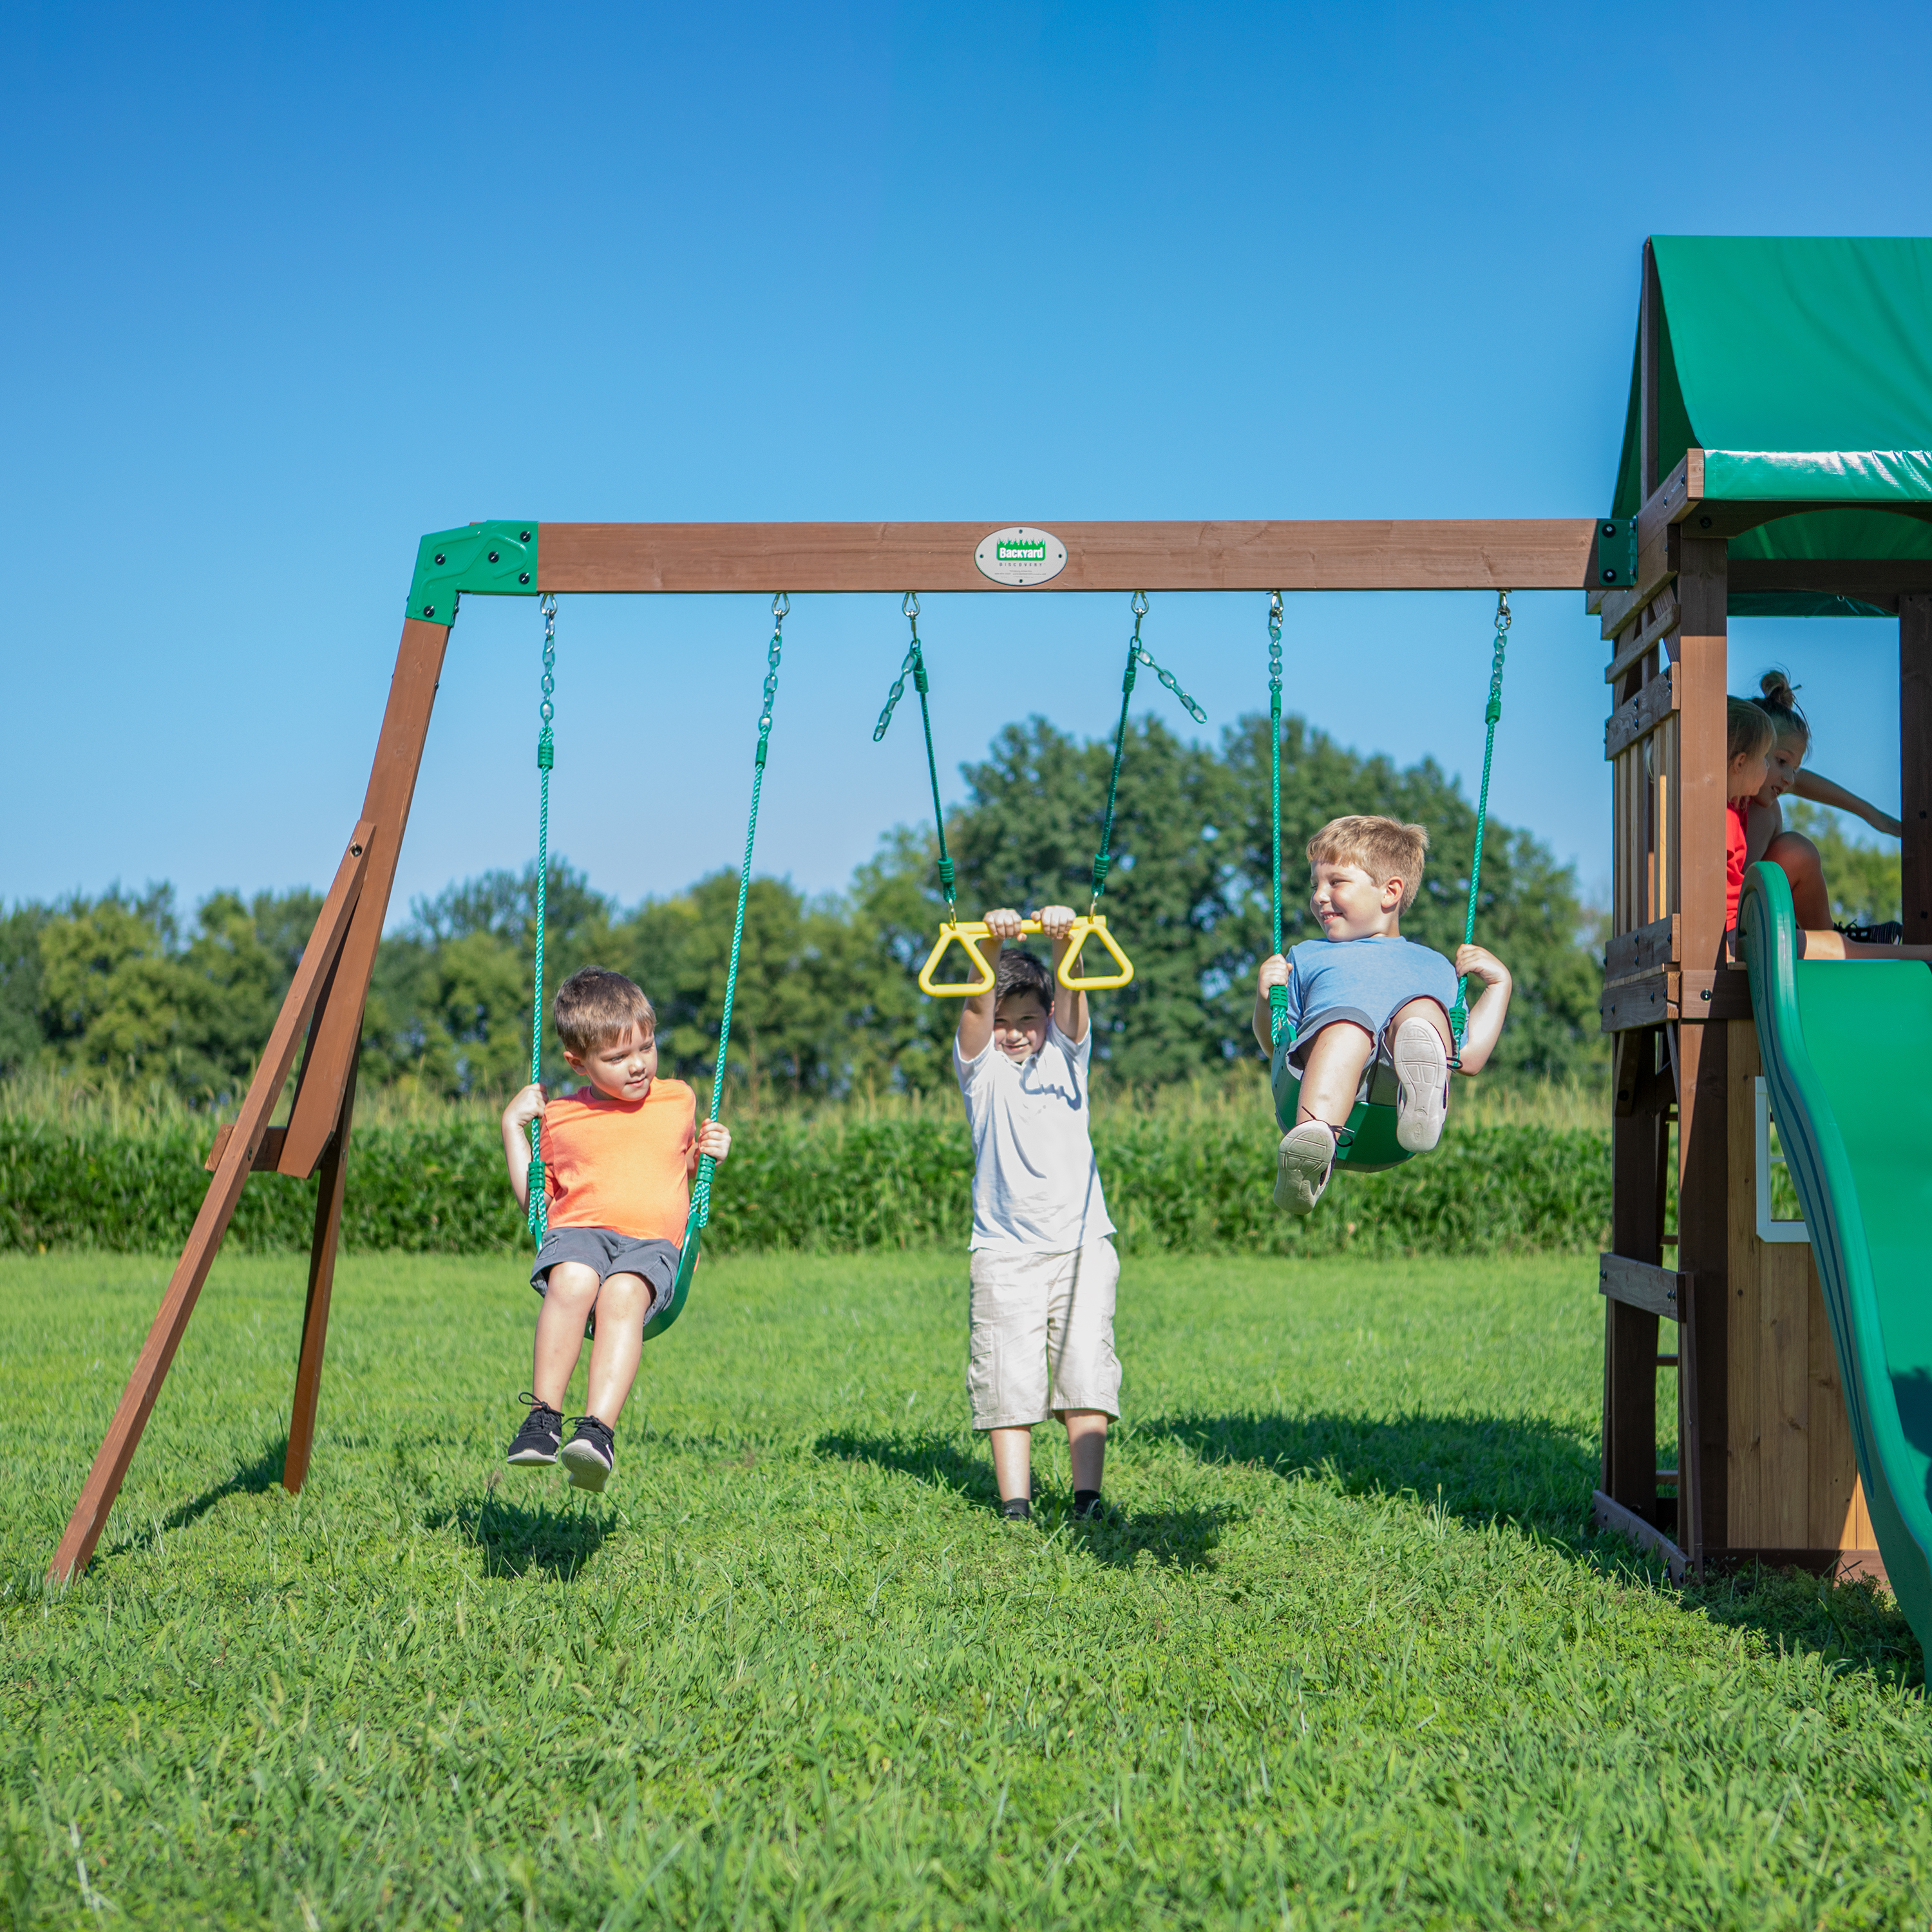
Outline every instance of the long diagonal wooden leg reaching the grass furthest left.
{"type": "Polygon", "coordinates": [[[214,1264],[222,1235],[228,1233],[228,1221],[242,1198],[242,1184],[255,1165],[255,1155],[269,1128],[269,1115],[274,1113],[274,1105],[282,1097],[282,1086],[301,1043],[301,1030],[309,1024],[323,983],[342,951],[344,935],[361,896],[373,835],[375,829],[367,819],[357,825],[342,854],[342,864],[336,866],[334,883],[323,900],[315,931],[309,933],[301,964],[296,968],[288,997],[282,1001],[282,1012],[276,1016],[269,1045],[263,1047],[261,1061],[255,1065],[255,1078],[249,1082],[247,1099],[242,1101],[242,1115],[222,1150],[209,1192],[201,1198],[201,1211],[189,1229],[182,1258],[174,1264],[174,1275],[168,1281],[168,1293],[160,1298],[155,1325],[147,1333],[147,1343],[133,1364],[128,1387],[122,1391],[120,1406],[108,1424],[106,1439],[95,1455],[95,1466],[87,1472],[81,1499],[73,1505],[60,1548],[54,1551],[48,1575],[56,1582],[70,1582],[87,1567],[87,1559],[95,1553],[95,1544],[100,1542],[100,1532],[106,1528],[108,1511],[114,1507],[114,1497],[120,1495],[128,1464],[133,1461],[141,1432],[155,1408],[155,1397],[160,1395],[160,1383],[174,1362],[174,1350],[182,1345],[182,1333],[187,1329],[187,1318],[195,1312],[195,1300],[201,1296],[201,1285],[209,1279],[209,1267],[214,1264]]]}

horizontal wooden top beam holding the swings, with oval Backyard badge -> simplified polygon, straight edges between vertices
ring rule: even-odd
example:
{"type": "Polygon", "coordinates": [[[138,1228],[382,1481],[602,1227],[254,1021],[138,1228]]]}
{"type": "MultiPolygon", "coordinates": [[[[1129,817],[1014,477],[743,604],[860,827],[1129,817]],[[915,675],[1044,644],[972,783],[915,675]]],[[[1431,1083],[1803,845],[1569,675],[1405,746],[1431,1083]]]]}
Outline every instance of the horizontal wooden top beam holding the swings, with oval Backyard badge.
{"type": "MultiPolygon", "coordinates": [[[[997,591],[1001,524],[543,524],[541,591],[997,591]]],[[[1592,518],[1037,524],[1051,591],[1580,591],[1592,518]]]]}

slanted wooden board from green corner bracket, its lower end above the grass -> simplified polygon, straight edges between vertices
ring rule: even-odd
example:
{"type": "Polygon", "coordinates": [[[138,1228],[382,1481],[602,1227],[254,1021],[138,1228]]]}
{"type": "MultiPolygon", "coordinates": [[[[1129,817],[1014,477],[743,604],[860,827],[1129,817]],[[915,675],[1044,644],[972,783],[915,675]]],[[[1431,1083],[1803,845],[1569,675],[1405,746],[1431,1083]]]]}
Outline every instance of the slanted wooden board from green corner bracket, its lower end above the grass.
{"type": "Polygon", "coordinates": [[[369,858],[369,879],[355,906],[348,939],[342,943],[342,962],[328,1007],[315,1028],[307,1059],[301,1065],[301,1092],[288,1117],[288,1138],[282,1142],[282,1173],[313,1175],[328,1136],[342,1115],[350,1066],[361,1043],[363,1001],[369,997],[369,974],[375,970],[375,949],[388,918],[388,895],[396,883],[396,862],[402,858],[402,833],[410,823],[410,802],[415,798],[415,775],[423,763],[423,742],[429,736],[429,711],[437,701],[437,680],[442,676],[442,653],[450,643],[448,624],[425,624],[404,618],[402,645],[396,651],[396,672],[388,684],[388,709],[383,713],[383,734],[375,746],[375,767],[363,798],[363,817],[377,829],[369,858]]]}

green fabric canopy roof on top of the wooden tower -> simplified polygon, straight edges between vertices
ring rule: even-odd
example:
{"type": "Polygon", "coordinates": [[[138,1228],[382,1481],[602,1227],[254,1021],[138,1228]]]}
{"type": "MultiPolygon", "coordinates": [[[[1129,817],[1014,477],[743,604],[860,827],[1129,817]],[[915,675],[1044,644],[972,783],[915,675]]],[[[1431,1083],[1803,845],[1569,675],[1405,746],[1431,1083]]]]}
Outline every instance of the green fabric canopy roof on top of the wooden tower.
{"type": "MultiPolygon", "coordinates": [[[[1932,558],[1932,240],[1654,236],[1658,475],[1704,450],[1706,502],[1791,502],[1733,558],[1932,558]],[[1843,506],[1843,508],[1826,508],[1843,506]]],[[[1638,371],[1613,516],[1634,516],[1638,371]]],[[[1733,611],[1870,611],[1739,595],[1733,611]]]]}

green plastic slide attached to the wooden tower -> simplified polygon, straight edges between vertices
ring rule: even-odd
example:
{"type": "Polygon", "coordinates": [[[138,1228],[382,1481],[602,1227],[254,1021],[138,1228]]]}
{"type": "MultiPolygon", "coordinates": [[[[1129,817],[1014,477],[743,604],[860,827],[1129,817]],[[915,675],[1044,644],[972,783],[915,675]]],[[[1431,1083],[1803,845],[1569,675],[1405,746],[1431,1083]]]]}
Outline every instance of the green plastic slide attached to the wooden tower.
{"type": "Polygon", "coordinates": [[[1872,1528],[1932,1650],[1932,968],[1806,964],[1776,866],[1745,873],[1737,925],[1872,1528]]]}

